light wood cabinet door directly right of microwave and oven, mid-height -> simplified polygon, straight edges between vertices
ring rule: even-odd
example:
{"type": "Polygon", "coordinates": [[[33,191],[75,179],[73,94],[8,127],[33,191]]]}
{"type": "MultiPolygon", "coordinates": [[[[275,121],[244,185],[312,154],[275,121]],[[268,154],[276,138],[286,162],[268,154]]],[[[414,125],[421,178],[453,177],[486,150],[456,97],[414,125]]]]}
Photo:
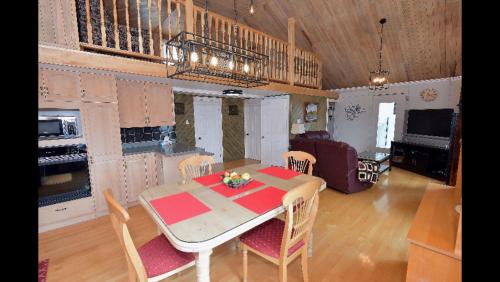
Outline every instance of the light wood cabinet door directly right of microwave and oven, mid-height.
{"type": "Polygon", "coordinates": [[[83,103],[82,118],[91,158],[122,155],[116,104],[83,103]]]}

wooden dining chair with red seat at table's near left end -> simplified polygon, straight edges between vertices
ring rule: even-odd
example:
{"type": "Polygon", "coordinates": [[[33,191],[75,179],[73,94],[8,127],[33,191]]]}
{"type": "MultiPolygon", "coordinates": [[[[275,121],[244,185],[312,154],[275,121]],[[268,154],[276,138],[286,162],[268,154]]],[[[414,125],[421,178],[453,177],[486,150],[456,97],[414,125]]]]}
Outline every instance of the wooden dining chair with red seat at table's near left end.
{"type": "Polygon", "coordinates": [[[195,264],[193,253],[177,250],[163,234],[136,249],[127,227],[128,212],[115,200],[111,189],[104,191],[104,197],[113,229],[125,252],[130,281],[160,281],[195,264]]]}

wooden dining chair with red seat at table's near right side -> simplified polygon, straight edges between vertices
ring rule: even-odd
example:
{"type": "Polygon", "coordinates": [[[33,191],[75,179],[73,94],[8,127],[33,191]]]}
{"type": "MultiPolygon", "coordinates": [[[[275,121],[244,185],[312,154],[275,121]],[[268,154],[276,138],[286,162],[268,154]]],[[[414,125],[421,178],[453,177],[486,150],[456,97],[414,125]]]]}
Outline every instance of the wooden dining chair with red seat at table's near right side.
{"type": "Polygon", "coordinates": [[[287,280],[287,265],[302,256],[302,275],[309,281],[307,251],[319,204],[320,180],[294,188],[283,197],[285,220],[272,218],[240,236],[243,250],[243,281],[247,281],[248,251],[278,265],[279,281],[287,280]]]}

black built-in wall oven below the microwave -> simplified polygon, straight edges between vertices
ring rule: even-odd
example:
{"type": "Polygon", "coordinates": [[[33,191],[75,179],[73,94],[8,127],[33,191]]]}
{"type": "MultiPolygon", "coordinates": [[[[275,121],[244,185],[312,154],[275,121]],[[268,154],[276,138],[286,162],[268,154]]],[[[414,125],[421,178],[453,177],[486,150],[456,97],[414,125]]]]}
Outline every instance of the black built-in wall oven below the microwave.
{"type": "Polygon", "coordinates": [[[91,196],[84,144],[38,148],[38,206],[91,196]]]}

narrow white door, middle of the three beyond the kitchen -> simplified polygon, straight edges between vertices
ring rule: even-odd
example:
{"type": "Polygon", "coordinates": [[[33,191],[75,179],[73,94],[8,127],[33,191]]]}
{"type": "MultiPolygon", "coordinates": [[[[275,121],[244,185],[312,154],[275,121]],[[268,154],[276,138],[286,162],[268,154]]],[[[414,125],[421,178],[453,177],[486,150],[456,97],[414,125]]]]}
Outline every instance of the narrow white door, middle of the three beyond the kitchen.
{"type": "Polygon", "coordinates": [[[245,99],[245,158],[260,160],[260,99],[245,99]]]}

